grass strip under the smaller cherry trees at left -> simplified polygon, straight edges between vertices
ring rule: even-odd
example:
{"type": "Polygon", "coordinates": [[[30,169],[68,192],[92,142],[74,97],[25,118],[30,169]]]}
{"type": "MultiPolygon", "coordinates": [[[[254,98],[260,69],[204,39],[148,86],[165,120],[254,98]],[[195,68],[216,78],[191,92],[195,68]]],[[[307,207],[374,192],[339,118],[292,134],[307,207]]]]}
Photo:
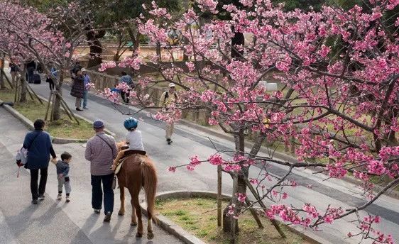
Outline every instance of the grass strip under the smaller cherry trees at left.
{"type": "MultiPolygon", "coordinates": [[[[28,94],[26,97],[26,103],[14,104],[13,108],[31,121],[35,121],[38,118],[44,119],[47,102],[43,101],[43,104],[40,104],[37,100],[33,101],[28,94]]],[[[14,90],[9,88],[0,90],[0,99],[2,101],[13,101],[14,90]]],[[[87,123],[87,121],[77,118],[80,122],[78,125],[76,121],[71,121],[64,111],[61,114],[62,116],[58,121],[46,121],[45,131],[48,131],[50,135],[58,138],[78,139],[88,139],[94,135],[92,125],[87,123]]]]}

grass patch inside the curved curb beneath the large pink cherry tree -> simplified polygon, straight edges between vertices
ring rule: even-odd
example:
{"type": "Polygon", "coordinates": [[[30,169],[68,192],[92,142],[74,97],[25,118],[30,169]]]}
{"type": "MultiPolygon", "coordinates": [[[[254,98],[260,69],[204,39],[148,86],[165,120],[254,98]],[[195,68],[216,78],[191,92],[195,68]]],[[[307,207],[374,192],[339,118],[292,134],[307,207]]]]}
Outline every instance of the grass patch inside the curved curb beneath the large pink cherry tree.
{"type": "MultiPolygon", "coordinates": [[[[224,201],[223,208],[228,202],[224,201]]],[[[192,233],[209,244],[229,243],[228,235],[222,227],[217,226],[216,199],[168,199],[157,201],[156,209],[160,214],[170,218],[185,231],[192,233]]],[[[246,244],[302,244],[309,243],[299,235],[288,231],[282,226],[286,239],[280,237],[273,225],[266,218],[261,217],[265,228],[259,229],[253,217],[245,213],[239,218],[238,243],[246,244]]]]}

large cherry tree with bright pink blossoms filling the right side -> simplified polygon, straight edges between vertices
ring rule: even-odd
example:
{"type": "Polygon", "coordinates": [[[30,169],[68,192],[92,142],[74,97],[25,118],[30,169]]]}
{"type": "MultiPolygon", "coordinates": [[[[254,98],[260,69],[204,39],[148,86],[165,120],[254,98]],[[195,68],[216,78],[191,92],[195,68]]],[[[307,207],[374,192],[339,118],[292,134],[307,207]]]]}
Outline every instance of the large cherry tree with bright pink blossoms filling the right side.
{"type": "MultiPolygon", "coordinates": [[[[196,3],[203,13],[218,13],[217,1],[196,3]]],[[[353,215],[359,233],[348,233],[349,237],[393,243],[391,235],[374,227],[380,221],[378,216],[361,216],[359,211],[399,183],[395,136],[399,131],[399,18],[386,17],[387,11],[398,9],[399,1],[370,1],[367,11],[360,6],[349,11],[323,6],[320,11],[307,12],[284,11],[282,5],[273,6],[269,0],[239,3],[244,8],[223,6],[231,19],[215,18],[204,25],[198,23],[202,13],[192,9],[179,21],[170,21],[166,9],[155,3],[146,6],[153,18],[142,18],[139,30],[152,43],[170,50],[170,65],[158,62],[155,56],[150,61],[131,57],[119,64],[135,70],[151,67],[163,77],[161,81],[140,77],[141,89],[131,92],[131,105],[157,107],[143,91],[153,84],[173,82],[178,87],[177,103],[157,118],[175,121],[184,110],[205,109],[211,113],[210,124],[234,135],[236,147],[230,151],[217,150],[207,159],[193,155],[190,162],[170,167],[170,171],[178,167],[194,170],[204,162],[222,165],[234,178],[232,204],[225,211],[231,220],[255,206],[267,218],[278,216],[285,223],[314,229],[353,215]],[[175,49],[190,55],[189,61],[174,60],[175,50],[167,42],[171,28],[181,30],[187,40],[175,49]],[[231,38],[236,33],[251,38],[244,45],[234,45],[231,38]],[[231,49],[238,56],[231,57],[231,49]],[[279,91],[267,91],[263,81],[270,78],[279,80],[279,91]],[[258,132],[251,150],[245,148],[247,128],[258,132]],[[267,157],[258,155],[266,141],[275,145],[294,141],[297,162],[278,160],[273,150],[267,157]],[[258,177],[250,176],[251,165],[261,170],[258,177]],[[273,165],[285,165],[286,174],[270,174],[273,165]],[[309,167],[322,169],[319,172],[328,179],[353,175],[363,186],[366,204],[317,209],[312,202],[303,206],[281,203],[290,198],[285,189],[297,187],[290,177],[293,170],[309,167]],[[379,192],[373,178],[387,179],[379,192]],[[247,188],[255,200],[244,206],[250,195],[247,188]],[[274,204],[266,204],[266,200],[274,204]]],[[[100,70],[115,65],[104,63],[100,70]]],[[[125,84],[117,88],[128,89],[125,84]]],[[[119,102],[119,96],[109,89],[104,94],[119,102]]],[[[235,230],[234,221],[231,224],[235,230]]]]}

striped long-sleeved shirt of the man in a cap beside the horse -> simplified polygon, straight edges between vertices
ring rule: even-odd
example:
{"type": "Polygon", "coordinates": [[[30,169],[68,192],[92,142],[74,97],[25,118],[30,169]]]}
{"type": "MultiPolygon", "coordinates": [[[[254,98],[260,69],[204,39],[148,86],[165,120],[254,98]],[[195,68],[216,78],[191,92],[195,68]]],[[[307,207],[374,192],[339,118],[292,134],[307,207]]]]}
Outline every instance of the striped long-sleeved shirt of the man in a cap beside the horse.
{"type": "Polygon", "coordinates": [[[111,135],[99,132],[87,141],[84,158],[90,161],[90,173],[92,175],[107,175],[113,173],[112,170],[109,170],[109,167],[111,167],[117,154],[115,139],[111,135]],[[106,140],[111,147],[102,139],[106,140]]]}

